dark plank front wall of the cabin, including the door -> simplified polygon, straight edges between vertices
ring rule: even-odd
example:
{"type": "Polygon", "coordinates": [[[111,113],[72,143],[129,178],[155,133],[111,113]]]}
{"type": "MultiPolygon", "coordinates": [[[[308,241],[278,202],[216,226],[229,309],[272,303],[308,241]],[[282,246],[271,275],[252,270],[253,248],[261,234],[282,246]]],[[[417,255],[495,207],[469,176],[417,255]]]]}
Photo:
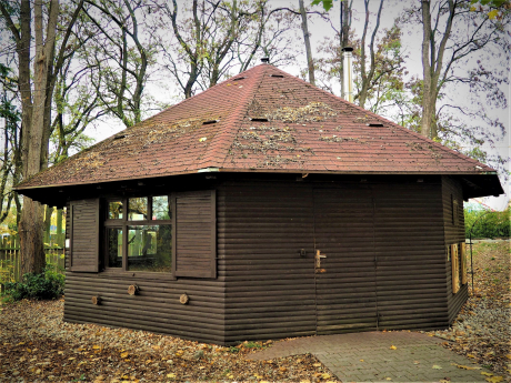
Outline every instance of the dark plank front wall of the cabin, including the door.
{"type": "MultiPolygon", "coordinates": [[[[373,330],[375,315],[380,330],[448,325],[440,178],[428,184],[369,185],[374,204],[369,222],[369,216],[364,221],[349,216],[349,203],[342,206],[347,201],[323,200],[321,209],[338,209],[339,216],[321,228],[310,218],[314,216],[311,193],[313,188],[332,185],[290,182],[278,187],[273,182],[269,187],[262,181],[223,185],[219,203],[226,211],[219,216],[219,232],[226,239],[219,246],[227,259],[222,275],[227,281],[228,342],[311,334],[314,309],[319,333],[373,330]],[[313,253],[308,250],[305,259],[297,256],[300,248],[310,249],[313,239],[309,233],[314,226],[317,242],[321,241],[319,230],[327,233],[321,246],[329,241],[329,232],[332,240],[321,249],[328,256],[323,263],[327,273],[315,284],[317,308],[313,253]],[[334,228],[340,232],[333,235],[334,228]],[[371,235],[372,251],[368,249],[371,235]],[[335,250],[335,244],[342,249],[335,250]]],[[[357,187],[351,188],[355,195],[357,187]]],[[[359,195],[361,191],[360,187],[359,195]]],[[[362,210],[360,218],[370,213],[371,206],[365,213],[362,210]]]]}

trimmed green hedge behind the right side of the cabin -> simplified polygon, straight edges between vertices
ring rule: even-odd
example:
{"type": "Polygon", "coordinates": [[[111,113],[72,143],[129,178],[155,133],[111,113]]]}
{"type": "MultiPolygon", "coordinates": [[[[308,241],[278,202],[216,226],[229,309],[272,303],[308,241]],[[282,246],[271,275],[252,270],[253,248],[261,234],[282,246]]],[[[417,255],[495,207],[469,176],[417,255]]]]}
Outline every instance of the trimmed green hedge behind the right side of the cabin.
{"type": "Polygon", "coordinates": [[[470,238],[510,238],[511,209],[505,211],[487,212],[487,211],[464,211],[465,235],[470,238]],[[473,226],[473,229],[472,229],[473,226]]]}

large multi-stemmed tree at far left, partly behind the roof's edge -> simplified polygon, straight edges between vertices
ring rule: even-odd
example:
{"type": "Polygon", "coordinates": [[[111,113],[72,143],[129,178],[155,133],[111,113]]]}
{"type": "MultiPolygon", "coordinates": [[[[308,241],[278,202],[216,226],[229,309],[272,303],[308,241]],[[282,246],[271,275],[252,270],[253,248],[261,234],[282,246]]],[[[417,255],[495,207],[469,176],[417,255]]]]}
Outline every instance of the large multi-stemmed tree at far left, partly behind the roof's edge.
{"type": "MultiPolygon", "coordinates": [[[[18,87],[21,99],[21,164],[22,178],[28,179],[46,168],[50,137],[50,105],[54,87],[54,71],[62,65],[68,53],[71,30],[80,13],[83,0],[78,1],[74,12],[67,20],[56,56],[56,41],[60,4],[58,0],[21,0],[19,12],[11,4],[0,1],[0,13],[17,44],[18,87]],[[34,57],[33,73],[30,71],[32,39],[32,7],[34,57]],[[16,17],[18,20],[14,22],[16,17]],[[46,24],[46,26],[44,26],[46,24]],[[33,90],[31,75],[33,74],[33,90]]],[[[18,206],[19,208],[19,206],[18,206]]],[[[39,273],[46,260],[42,241],[43,209],[29,198],[23,198],[19,233],[21,244],[21,272],[39,273]]]]}

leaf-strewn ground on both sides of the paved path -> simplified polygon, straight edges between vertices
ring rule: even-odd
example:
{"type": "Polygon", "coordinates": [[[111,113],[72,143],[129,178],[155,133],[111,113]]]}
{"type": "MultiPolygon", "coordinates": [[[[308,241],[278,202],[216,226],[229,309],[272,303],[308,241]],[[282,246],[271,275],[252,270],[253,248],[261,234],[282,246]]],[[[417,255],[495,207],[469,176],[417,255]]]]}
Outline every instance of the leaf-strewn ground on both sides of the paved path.
{"type": "MultiPolygon", "coordinates": [[[[509,242],[474,245],[474,292],[444,345],[511,381],[509,242]]],[[[470,283],[470,276],[469,276],[470,283]]],[[[1,382],[329,382],[314,356],[247,361],[270,342],[238,347],[94,324],[62,322],[63,300],[0,306],[1,382]]]]}

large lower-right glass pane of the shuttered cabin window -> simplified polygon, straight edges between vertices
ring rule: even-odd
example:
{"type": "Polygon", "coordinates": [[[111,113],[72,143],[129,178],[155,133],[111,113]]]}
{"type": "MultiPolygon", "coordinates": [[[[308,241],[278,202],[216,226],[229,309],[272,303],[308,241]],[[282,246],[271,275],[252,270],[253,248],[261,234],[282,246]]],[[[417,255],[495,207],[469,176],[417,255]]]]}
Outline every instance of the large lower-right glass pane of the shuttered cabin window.
{"type": "Polygon", "coordinates": [[[128,226],[129,271],[172,271],[171,225],[128,226]]]}

